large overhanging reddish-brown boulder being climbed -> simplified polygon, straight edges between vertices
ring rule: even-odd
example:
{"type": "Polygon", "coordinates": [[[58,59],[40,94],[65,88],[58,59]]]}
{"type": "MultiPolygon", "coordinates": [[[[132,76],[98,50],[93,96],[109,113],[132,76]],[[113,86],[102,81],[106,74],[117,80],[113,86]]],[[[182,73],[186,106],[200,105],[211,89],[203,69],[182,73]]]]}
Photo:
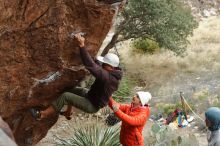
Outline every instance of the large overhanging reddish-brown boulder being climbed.
{"type": "Polygon", "coordinates": [[[117,5],[95,0],[1,0],[0,11],[0,115],[20,146],[34,145],[57,117],[38,122],[28,110],[48,106],[86,75],[70,33],[86,32],[86,46],[95,56],[117,5]]]}

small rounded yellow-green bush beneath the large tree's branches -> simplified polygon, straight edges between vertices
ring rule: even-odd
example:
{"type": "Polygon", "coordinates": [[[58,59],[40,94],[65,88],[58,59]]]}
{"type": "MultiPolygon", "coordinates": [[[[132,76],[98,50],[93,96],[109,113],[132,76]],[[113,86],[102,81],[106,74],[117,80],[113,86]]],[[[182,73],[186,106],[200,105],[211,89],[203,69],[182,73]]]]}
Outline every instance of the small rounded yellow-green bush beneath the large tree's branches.
{"type": "Polygon", "coordinates": [[[149,39],[136,39],[133,42],[133,48],[140,53],[153,54],[159,49],[155,41],[149,39]]]}

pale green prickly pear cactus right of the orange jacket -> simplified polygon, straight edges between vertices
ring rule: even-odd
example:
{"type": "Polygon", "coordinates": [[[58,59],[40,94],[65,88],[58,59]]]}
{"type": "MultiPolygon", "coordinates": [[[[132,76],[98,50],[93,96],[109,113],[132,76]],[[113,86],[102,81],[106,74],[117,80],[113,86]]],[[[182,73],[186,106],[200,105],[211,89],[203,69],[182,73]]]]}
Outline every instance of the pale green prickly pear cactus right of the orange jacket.
{"type": "Polygon", "coordinates": [[[147,146],[186,146],[199,145],[198,140],[193,134],[178,134],[168,126],[154,124],[151,127],[151,135],[147,138],[147,146]]]}

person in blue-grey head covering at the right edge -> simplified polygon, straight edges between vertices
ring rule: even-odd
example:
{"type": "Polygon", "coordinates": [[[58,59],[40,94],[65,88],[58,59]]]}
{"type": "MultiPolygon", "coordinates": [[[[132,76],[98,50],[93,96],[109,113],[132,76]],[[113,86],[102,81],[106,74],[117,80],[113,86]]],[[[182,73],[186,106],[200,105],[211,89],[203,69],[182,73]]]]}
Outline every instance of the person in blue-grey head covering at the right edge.
{"type": "Polygon", "coordinates": [[[208,127],[208,146],[220,146],[220,108],[208,108],[205,112],[205,118],[208,127]]]}

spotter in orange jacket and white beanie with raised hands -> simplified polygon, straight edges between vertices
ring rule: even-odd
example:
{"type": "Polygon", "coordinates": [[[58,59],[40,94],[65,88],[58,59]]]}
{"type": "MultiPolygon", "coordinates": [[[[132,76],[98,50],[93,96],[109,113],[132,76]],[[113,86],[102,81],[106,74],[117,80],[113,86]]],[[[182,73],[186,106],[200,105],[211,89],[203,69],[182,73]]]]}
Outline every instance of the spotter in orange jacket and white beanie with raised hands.
{"type": "Polygon", "coordinates": [[[144,146],[142,130],[150,116],[149,92],[137,92],[131,104],[119,104],[110,98],[109,106],[122,121],[120,142],[123,146],[144,146]]]}

